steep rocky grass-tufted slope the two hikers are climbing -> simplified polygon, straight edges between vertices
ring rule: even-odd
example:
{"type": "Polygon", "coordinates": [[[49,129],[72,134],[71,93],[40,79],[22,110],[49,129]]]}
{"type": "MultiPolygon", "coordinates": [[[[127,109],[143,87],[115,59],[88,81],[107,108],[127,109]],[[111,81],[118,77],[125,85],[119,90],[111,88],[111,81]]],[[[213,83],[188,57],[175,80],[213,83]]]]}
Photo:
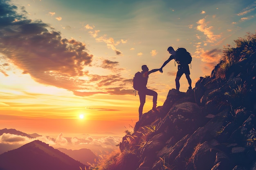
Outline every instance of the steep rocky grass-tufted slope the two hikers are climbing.
{"type": "Polygon", "coordinates": [[[193,90],[171,89],[159,113],[144,113],[120,143],[117,169],[256,170],[256,53],[243,50],[193,90]]]}

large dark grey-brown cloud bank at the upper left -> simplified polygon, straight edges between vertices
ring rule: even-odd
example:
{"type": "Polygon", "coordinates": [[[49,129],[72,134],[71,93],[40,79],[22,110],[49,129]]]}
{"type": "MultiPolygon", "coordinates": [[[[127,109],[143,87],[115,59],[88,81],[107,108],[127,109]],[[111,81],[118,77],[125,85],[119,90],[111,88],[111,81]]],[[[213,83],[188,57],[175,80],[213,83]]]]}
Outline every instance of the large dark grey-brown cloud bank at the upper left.
{"type": "Polygon", "coordinates": [[[77,89],[76,84],[82,83],[77,77],[86,75],[83,69],[91,65],[93,57],[85,51],[85,44],[48,31],[49,25],[40,20],[16,14],[15,6],[4,8],[0,18],[0,52],[36,82],[77,89]]]}

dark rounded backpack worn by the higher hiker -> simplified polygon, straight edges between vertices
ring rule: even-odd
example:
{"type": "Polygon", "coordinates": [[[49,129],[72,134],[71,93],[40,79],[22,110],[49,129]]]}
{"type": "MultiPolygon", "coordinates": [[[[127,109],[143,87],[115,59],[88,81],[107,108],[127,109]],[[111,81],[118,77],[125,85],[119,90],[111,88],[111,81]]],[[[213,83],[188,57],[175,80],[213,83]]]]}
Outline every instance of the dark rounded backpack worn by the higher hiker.
{"type": "Polygon", "coordinates": [[[190,64],[192,61],[192,57],[191,54],[189,52],[186,51],[186,49],[184,48],[178,48],[176,50],[176,58],[175,61],[178,64],[190,64]]]}

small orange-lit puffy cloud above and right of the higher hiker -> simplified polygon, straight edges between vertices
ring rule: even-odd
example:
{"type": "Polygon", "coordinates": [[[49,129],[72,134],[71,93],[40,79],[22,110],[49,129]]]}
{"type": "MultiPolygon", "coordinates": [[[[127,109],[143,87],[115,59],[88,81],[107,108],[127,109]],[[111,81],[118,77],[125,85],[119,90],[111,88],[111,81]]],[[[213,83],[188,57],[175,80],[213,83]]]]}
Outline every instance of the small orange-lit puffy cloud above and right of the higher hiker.
{"type": "Polygon", "coordinates": [[[217,39],[221,37],[220,35],[213,34],[213,32],[211,31],[213,29],[213,26],[208,26],[207,24],[209,24],[209,22],[206,22],[205,18],[199,20],[197,24],[197,30],[203,32],[204,35],[207,36],[208,42],[215,42],[217,39]]]}

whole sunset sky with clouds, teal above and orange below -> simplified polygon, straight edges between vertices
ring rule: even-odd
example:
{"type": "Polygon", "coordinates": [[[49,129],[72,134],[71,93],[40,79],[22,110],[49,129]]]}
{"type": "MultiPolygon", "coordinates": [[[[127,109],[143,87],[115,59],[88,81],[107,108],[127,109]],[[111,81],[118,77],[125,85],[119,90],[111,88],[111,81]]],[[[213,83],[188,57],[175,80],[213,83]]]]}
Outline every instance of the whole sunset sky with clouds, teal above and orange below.
{"type": "MultiPolygon", "coordinates": [[[[220,61],[224,45],[255,32],[253,0],[234,0],[236,8],[221,0],[200,1],[200,8],[189,0],[78,2],[0,4],[0,128],[122,134],[138,121],[132,78],[141,65],[160,68],[168,46],[185,47],[195,87],[220,61]]],[[[158,106],[175,88],[177,66],[171,61],[163,71],[148,79],[158,106]]],[[[185,76],[180,84],[185,92],[185,76]]],[[[151,108],[147,97],[144,113],[151,108]]]]}

